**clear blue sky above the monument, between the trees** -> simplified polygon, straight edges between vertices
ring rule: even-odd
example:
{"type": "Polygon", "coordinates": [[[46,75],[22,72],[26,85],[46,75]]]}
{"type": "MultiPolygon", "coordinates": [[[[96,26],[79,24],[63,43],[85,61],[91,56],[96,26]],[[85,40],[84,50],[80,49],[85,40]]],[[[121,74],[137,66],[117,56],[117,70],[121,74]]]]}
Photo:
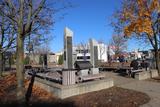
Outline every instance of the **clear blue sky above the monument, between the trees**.
{"type": "MultiPolygon", "coordinates": [[[[73,44],[87,42],[89,38],[103,40],[107,43],[113,32],[110,25],[113,12],[121,5],[121,0],[71,0],[76,7],[66,9],[59,14],[67,13],[63,20],[56,21],[51,34],[50,49],[58,52],[63,49],[64,28],[67,26],[74,32],[73,44]]],[[[137,49],[137,42],[129,40],[129,51],[137,49]]]]}

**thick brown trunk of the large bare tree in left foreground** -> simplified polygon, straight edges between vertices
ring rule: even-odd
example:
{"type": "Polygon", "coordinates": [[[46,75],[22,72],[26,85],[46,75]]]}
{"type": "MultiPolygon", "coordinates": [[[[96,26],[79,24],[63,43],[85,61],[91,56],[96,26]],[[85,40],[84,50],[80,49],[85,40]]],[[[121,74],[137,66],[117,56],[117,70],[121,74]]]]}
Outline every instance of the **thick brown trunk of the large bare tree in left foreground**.
{"type": "Polygon", "coordinates": [[[19,104],[25,103],[25,88],[24,88],[24,39],[21,35],[17,37],[17,100],[19,104]]]}

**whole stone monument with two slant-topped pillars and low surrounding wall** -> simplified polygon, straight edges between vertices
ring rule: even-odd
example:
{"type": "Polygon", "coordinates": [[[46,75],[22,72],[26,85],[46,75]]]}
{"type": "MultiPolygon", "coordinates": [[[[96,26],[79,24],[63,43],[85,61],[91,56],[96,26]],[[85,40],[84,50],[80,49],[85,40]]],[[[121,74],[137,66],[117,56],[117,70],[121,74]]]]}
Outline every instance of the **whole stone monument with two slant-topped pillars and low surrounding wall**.
{"type": "Polygon", "coordinates": [[[72,37],[73,32],[66,27],[64,29],[64,67],[47,68],[45,72],[38,71],[35,84],[61,99],[112,87],[113,79],[104,78],[105,75],[96,68],[98,61],[96,43],[93,40],[90,41],[91,62],[74,63],[72,37]]]}

